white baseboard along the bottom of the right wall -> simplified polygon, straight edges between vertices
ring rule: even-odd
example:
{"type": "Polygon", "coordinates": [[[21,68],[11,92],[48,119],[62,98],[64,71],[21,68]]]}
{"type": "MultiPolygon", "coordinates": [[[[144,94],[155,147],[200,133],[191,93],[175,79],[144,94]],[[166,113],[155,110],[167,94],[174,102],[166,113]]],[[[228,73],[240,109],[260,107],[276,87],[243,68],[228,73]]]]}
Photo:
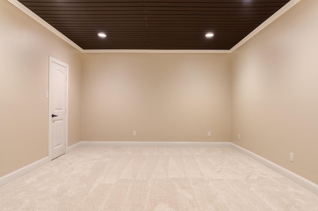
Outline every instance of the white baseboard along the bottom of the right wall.
{"type": "Polygon", "coordinates": [[[313,192],[314,194],[318,195],[318,185],[299,176],[298,174],[295,174],[294,172],[287,170],[286,168],[283,168],[280,165],[277,165],[273,163],[272,161],[269,161],[268,159],[262,158],[255,153],[252,153],[236,144],[231,143],[231,147],[238,150],[239,152],[243,153],[244,155],[255,159],[256,161],[266,165],[267,167],[271,168],[272,170],[278,172],[279,174],[287,177],[288,179],[294,181],[295,183],[301,185],[302,187],[306,188],[307,190],[313,192]]]}

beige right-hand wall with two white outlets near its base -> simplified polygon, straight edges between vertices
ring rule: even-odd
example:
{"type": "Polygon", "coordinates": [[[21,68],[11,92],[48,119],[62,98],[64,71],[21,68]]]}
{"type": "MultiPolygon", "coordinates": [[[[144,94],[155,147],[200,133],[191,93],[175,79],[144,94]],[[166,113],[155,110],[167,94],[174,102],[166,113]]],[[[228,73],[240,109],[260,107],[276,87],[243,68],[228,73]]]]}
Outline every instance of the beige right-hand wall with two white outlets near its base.
{"type": "Polygon", "coordinates": [[[302,0],[232,53],[232,141],[316,184],[317,11],[302,0]]]}

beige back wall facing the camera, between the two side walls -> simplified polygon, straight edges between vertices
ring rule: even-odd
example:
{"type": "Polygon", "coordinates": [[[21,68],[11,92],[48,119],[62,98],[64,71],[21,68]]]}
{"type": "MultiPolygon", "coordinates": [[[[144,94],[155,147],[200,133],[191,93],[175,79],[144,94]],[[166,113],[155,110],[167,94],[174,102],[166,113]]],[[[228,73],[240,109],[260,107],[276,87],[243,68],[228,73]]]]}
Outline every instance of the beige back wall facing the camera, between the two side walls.
{"type": "Polygon", "coordinates": [[[81,139],[229,141],[229,70],[229,54],[85,54],[81,139]]]}

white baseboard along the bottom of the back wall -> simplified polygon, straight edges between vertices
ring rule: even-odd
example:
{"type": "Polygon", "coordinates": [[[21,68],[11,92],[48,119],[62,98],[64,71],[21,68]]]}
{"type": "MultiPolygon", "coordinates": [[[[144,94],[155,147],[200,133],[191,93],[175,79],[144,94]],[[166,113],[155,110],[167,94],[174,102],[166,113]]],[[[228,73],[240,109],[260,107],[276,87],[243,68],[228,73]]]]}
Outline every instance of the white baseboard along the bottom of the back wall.
{"type": "Polygon", "coordinates": [[[80,146],[109,147],[230,147],[230,144],[231,142],[80,142],[80,146]]]}

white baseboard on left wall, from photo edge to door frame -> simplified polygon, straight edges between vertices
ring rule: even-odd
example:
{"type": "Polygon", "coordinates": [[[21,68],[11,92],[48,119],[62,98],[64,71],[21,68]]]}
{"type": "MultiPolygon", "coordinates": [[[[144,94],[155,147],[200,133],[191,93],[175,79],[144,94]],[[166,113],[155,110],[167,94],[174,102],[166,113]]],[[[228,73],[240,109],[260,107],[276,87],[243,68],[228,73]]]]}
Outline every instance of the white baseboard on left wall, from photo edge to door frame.
{"type": "Polygon", "coordinates": [[[20,169],[17,169],[7,175],[4,175],[2,177],[0,177],[0,187],[9,183],[9,182],[12,182],[13,180],[35,170],[36,168],[48,163],[50,161],[49,157],[45,157],[45,158],[42,158],[38,161],[35,161],[27,166],[24,166],[20,169]]]}

